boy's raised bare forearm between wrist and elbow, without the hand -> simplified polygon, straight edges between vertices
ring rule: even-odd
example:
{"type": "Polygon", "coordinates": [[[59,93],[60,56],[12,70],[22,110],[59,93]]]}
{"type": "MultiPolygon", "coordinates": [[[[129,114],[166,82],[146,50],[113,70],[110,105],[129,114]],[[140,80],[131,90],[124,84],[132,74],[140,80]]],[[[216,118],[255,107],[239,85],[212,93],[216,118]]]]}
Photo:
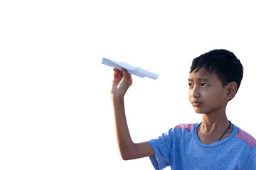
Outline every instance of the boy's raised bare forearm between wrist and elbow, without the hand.
{"type": "Polygon", "coordinates": [[[133,158],[134,142],[129,134],[127,120],[124,111],[124,96],[112,94],[114,105],[114,119],[117,133],[117,142],[123,159],[133,158]]]}

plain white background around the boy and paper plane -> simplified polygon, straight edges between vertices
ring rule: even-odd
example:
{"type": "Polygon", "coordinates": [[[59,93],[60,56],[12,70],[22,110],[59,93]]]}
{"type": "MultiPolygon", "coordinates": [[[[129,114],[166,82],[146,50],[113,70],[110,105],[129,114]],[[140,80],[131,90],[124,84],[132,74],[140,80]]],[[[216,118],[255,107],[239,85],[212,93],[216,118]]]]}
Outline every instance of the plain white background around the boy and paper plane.
{"type": "Polygon", "coordinates": [[[194,57],[231,50],[245,67],[228,118],[256,137],[253,1],[1,1],[0,169],[153,169],[119,156],[102,57],[159,74],[133,77],[134,142],[199,123],[188,101],[194,57]]]}

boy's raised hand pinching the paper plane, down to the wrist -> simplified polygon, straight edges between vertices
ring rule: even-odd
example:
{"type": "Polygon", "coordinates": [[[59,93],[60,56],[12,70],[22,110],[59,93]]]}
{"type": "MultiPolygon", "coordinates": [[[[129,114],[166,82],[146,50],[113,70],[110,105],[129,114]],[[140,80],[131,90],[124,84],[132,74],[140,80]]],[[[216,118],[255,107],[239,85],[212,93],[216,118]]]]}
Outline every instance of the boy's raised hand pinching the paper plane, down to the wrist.
{"type": "Polygon", "coordinates": [[[124,96],[129,86],[132,85],[132,75],[122,68],[122,71],[114,68],[114,79],[112,83],[112,96],[124,96]]]}

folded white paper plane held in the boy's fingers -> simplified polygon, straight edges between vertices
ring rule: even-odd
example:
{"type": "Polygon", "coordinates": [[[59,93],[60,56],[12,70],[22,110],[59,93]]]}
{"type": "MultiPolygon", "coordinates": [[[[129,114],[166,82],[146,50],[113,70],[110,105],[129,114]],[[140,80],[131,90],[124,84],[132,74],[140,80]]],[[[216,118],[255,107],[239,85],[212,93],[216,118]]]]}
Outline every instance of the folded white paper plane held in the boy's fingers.
{"type": "Polygon", "coordinates": [[[138,77],[149,77],[151,79],[157,79],[159,77],[159,74],[155,74],[149,71],[146,71],[145,69],[134,67],[130,64],[127,64],[125,62],[116,62],[114,60],[110,60],[107,58],[102,58],[102,64],[105,64],[110,67],[117,68],[119,70],[122,70],[122,68],[127,69],[127,71],[130,74],[134,74],[138,77]]]}

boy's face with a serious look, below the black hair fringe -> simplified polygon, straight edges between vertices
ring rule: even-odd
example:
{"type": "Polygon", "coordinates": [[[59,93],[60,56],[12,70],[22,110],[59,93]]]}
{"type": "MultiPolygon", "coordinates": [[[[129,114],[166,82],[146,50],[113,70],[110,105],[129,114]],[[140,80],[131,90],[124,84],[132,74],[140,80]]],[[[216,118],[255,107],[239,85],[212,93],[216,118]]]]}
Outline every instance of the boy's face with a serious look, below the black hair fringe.
{"type": "Polygon", "coordinates": [[[203,68],[198,72],[191,72],[188,85],[188,98],[196,113],[225,112],[227,92],[216,74],[210,74],[203,68]]]}

